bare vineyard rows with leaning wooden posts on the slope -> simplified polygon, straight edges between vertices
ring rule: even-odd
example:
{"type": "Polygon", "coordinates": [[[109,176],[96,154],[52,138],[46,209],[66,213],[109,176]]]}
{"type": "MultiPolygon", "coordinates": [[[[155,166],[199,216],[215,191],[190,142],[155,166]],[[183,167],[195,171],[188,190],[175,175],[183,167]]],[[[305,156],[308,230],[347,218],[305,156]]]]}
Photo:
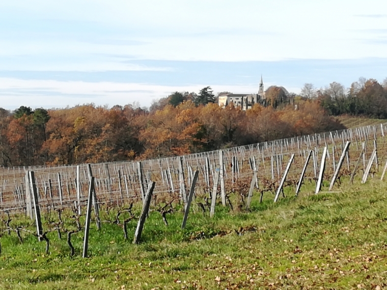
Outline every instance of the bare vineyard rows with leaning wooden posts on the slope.
{"type": "MultiPolygon", "coordinates": [[[[330,198],[327,192],[343,192],[353,187],[350,184],[361,190],[370,178],[382,180],[385,132],[385,125],[378,124],[174,158],[2,168],[0,253],[10,259],[18,249],[33,251],[57,263],[68,257],[112,258],[115,252],[113,260],[119,263],[120,252],[134,235],[133,243],[140,245],[130,248],[131,258],[144,257],[151,268],[152,261],[157,264],[160,259],[157,255],[163,260],[177,257],[171,253],[173,247],[157,246],[166,240],[189,244],[219,237],[248,239],[253,233],[263,239],[269,229],[251,220],[261,212],[291,207],[305,197],[305,202],[324,202],[330,198]],[[233,219],[243,225],[235,227],[233,219]],[[157,255],[150,257],[152,251],[157,255]]],[[[291,212],[282,214],[292,219],[291,212]]],[[[268,214],[265,223],[272,223],[272,218],[268,214]]],[[[222,284],[223,278],[218,279],[215,282],[222,284]]],[[[199,287],[198,282],[188,287],[173,281],[172,288],[199,287]]]]}

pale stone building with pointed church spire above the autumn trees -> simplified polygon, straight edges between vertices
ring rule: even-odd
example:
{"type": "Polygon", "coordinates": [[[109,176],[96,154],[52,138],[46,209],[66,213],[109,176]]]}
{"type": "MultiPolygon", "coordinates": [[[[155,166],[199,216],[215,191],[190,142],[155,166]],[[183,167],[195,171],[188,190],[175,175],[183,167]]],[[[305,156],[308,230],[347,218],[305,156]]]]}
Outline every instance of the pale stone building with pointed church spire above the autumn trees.
{"type": "Polygon", "coordinates": [[[258,94],[233,94],[233,93],[222,93],[218,96],[218,104],[224,108],[228,104],[234,103],[235,107],[241,107],[242,110],[251,109],[254,104],[265,104],[265,92],[263,90],[263,80],[261,76],[261,82],[259,83],[258,94]]]}

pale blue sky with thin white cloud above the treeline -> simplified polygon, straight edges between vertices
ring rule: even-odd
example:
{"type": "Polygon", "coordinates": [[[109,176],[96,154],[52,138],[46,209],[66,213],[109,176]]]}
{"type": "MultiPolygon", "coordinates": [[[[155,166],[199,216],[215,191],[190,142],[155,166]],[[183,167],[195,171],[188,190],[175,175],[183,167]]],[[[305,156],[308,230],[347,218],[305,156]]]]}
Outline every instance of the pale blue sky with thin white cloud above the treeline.
{"type": "Polygon", "coordinates": [[[140,104],[172,92],[387,77],[387,1],[0,2],[0,107],[140,104]]]}

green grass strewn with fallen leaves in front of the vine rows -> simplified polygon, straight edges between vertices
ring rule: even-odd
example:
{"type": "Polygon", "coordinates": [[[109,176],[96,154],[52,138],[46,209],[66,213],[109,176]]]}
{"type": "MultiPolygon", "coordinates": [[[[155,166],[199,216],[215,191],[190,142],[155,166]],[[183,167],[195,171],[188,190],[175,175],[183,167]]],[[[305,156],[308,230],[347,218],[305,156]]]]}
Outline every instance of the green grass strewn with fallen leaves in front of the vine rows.
{"type": "MultiPolygon", "coordinates": [[[[372,180],[314,195],[315,185],[307,184],[297,198],[286,188],[287,198],[277,204],[271,194],[259,204],[256,195],[251,212],[217,205],[210,219],[197,210],[185,230],[181,212],[168,215],[169,226],[152,212],[140,245],[125,241],[117,225],[103,223],[100,231],[91,230],[85,259],[82,233],[73,237],[74,257],[56,233],[49,234],[49,255],[31,235],[22,244],[14,233],[4,235],[0,288],[382,289],[387,286],[385,186],[372,180]]],[[[133,221],[131,237],[134,229],[133,221]]]]}

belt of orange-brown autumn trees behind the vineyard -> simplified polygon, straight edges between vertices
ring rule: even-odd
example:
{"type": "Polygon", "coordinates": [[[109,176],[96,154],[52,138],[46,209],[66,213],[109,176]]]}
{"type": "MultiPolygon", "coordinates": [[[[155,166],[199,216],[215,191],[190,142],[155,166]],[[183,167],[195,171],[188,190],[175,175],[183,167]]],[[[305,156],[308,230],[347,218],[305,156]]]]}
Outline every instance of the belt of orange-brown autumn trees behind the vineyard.
{"type": "Polygon", "coordinates": [[[210,86],[199,94],[175,92],[149,108],[94,104],[62,109],[0,108],[0,165],[97,163],[167,157],[343,129],[340,114],[387,118],[387,88],[365,80],[351,88],[333,82],[299,96],[242,111],[220,108],[210,86]]]}

